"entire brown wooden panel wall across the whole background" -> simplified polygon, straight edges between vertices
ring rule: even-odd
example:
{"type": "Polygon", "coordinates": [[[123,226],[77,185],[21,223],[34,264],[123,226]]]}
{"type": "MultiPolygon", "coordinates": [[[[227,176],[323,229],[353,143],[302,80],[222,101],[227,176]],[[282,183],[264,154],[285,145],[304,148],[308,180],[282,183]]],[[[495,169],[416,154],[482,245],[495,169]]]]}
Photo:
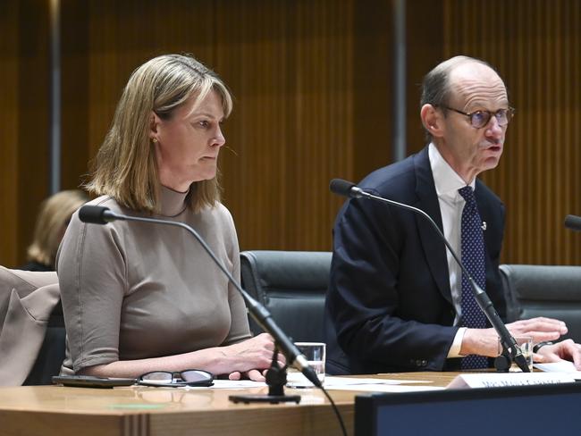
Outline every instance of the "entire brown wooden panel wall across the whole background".
{"type": "MultiPolygon", "coordinates": [[[[24,260],[48,177],[48,2],[0,2],[0,264],[24,260]]],[[[331,248],[333,177],[391,162],[392,2],[62,0],[63,189],[88,172],[131,71],[192,53],[236,96],[224,201],[242,249],[331,248]]],[[[496,65],[518,115],[484,180],[508,214],[504,262],[581,264],[579,2],[415,0],[408,9],[408,153],[424,147],[418,85],[445,57],[496,65]]]]}

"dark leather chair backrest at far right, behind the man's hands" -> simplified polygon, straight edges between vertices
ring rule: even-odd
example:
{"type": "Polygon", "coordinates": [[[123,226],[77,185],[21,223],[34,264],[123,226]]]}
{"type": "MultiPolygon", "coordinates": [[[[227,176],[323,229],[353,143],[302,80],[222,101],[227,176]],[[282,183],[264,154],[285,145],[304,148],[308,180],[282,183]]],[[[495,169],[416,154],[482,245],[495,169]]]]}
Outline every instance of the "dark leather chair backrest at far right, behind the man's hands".
{"type": "Polygon", "coordinates": [[[581,342],[581,266],[501,265],[509,321],[547,316],[567,323],[581,342]]]}

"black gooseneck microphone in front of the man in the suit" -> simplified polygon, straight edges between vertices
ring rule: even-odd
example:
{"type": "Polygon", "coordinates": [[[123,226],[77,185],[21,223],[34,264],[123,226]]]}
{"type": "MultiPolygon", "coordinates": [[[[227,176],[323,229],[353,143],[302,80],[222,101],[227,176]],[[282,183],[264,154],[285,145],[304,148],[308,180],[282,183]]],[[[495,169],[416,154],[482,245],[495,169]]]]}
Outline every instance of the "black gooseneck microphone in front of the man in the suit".
{"type": "MultiPolygon", "coordinates": [[[[438,227],[438,224],[436,224],[434,222],[434,220],[432,219],[432,217],[430,217],[430,215],[426,214],[422,209],[418,209],[417,207],[414,207],[411,205],[404,205],[403,203],[399,203],[397,201],[393,201],[393,200],[390,200],[387,198],[377,197],[373,194],[370,194],[369,192],[366,192],[365,190],[359,188],[356,184],[351,183],[350,181],[347,181],[347,180],[333,179],[333,180],[331,180],[331,183],[329,185],[329,189],[331,189],[331,192],[333,192],[333,194],[338,194],[340,196],[350,197],[350,198],[368,198],[371,200],[386,203],[388,205],[394,205],[396,207],[400,207],[402,209],[406,209],[408,211],[411,211],[414,214],[419,214],[419,215],[423,216],[425,218],[425,220],[427,220],[432,225],[432,227],[434,227],[434,231],[438,234],[440,239],[442,239],[442,241],[446,245],[446,247],[448,247],[448,249],[450,250],[450,254],[454,258],[456,263],[459,264],[460,269],[467,277],[467,281],[470,283],[470,286],[472,288],[472,292],[473,292],[474,297],[476,299],[476,303],[478,303],[478,306],[480,306],[480,309],[484,312],[484,314],[486,315],[486,318],[488,318],[488,321],[491,323],[494,330],[499,335],[499,338],[501,338],[503,354],[507,353],[507,355],[509,355],[510,358],[512,358],[512,360],[514,360],[514,362],[523,371],[523,373],[530,372],[528,369],[528,365],[526,365],[525,356],[523,356],[522,351],[518,347],[517,341],[512,337],[509,330],[506,328],[506,325],[504,325],[504,323],[502,323],[501,317],[496,312],[496,309],[493,306],[493,302],[490,300],[490,298],[488,297],[486,292],[484,292],[484,289],[480,288],[480,286],[478,286],[476,281],[474,281],[474,279],[472,278],[470,273],[467,272],[467,269],[464,266],[464,264],[462,264],[462,262],[460,261],[459,256],[456,254],[454,249],[450,246],[450,242],[448,242],[448,240],[446,239],[446,237],[443,235],[442,231],[438,227]],[[508,351],[509,349],[510,349],[510,352],[508,351]]],[[[500,363],[499,363],[499,365],[500,365],[500,363]]],[[[508,369],[508,366],[509,365],[507,365],[506,369],[508,369]]],[[[502,368],[499,367],[499,369],[505,369],[505,368],[502,366],[502,368]]]]}

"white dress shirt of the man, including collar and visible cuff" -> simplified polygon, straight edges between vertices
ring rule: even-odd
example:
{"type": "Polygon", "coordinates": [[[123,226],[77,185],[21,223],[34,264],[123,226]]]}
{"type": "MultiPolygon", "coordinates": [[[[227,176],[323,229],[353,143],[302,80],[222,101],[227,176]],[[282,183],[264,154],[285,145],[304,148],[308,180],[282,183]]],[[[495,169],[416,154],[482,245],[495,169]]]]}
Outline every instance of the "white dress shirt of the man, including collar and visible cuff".
{"type": "MultiPolygon", "coordinates": [[[[438,203],[440,204],[440,213],[442,214],[443,233],[456,254],[461,256],[460,227],[462,222],[462,209],[466,201],[459,195],[458,189],[464,188],[466,182],[444,160],[433,143],[430,143],[428,146],[428,157],[430,159],[432,174],[434,175],[434,185],[436,194],[438,195],[438,203]]],[[[474,189],[475,185],[476,179],[470,183],[472,189],[474,189]]],[[[462,314],[462,270],[452,257],[448,248],[446,248],[446,260],[448,261],[448,271],[450,272],[452,303],[456,310],[454,325],[458,325],[462,314]]],[[[466,327],[459,329],[448,352],[448,357],[461,356],[459,352],[465,332],[466,327]]]]}

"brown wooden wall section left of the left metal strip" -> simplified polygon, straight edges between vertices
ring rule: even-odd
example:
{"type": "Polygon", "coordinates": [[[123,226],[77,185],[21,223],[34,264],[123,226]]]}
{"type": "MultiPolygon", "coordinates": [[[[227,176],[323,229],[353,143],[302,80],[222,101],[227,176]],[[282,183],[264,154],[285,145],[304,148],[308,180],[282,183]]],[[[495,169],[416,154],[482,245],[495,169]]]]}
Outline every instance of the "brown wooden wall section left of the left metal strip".
{"type": "Polygon", "coordinates": [[[0,2],[0,264],[25,260],[49,190],[48,2],[0,2]]]}

